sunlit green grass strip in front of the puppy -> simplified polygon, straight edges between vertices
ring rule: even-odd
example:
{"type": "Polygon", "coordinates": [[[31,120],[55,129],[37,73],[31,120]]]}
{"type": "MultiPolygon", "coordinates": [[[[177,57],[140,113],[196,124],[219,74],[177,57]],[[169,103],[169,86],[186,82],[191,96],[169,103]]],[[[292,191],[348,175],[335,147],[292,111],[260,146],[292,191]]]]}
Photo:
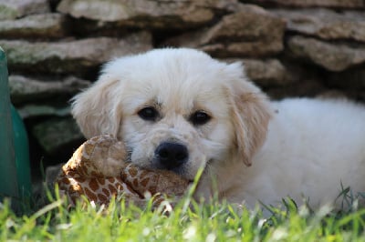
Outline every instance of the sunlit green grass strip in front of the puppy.
{"type": "Polygon", "coordinates": [[[317,212],[297,207],[289,198],[281,207],[250,211],[227,203],[196,204],[184,198],[170,212],[125,207],[68,209],[50,196],[48,204],[26,215],[16,215],[5,200],[0,207],[0,241],[364,241],[365,209],[352,207],[317,212]],[[191,204],[190,206],[189,203],[191,204]]]}

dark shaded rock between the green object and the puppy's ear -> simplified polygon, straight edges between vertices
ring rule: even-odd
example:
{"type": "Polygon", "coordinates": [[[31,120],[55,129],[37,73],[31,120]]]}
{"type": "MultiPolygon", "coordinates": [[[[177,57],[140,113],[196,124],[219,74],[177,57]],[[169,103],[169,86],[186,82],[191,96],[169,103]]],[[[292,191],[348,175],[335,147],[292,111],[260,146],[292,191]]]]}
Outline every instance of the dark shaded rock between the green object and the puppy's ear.
{"type": "Polygon", "coordinates": [[[47,154],[54,154],[63,146],[83,139],[83,135],[72,117],[47,119],[32,126],[31,132],[47,154]]]}

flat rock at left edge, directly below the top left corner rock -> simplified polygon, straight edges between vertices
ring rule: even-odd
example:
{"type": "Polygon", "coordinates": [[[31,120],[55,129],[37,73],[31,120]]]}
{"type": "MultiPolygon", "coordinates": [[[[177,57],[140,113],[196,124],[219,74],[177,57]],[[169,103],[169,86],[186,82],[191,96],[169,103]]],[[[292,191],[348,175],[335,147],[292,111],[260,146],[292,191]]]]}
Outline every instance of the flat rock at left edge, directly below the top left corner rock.
{"type": "Polygon", "coordinates": [[[65,16],[29,15],[16,20],[0,21],[1,38],[59,38],[65,35],[65,16]]]}

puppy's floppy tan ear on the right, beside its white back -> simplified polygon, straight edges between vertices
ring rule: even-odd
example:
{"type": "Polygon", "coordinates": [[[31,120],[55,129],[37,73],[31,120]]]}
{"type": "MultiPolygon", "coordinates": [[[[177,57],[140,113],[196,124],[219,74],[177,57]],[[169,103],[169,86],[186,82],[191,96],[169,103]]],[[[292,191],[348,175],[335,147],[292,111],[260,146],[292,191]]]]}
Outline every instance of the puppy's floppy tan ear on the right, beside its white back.
{"type": "Polygon", "coordinates": [[[235,63],[228,67],[240,72],[230,86],[235,145],[238,156],[251,166],[252,157],[265,141],[272,112],[267,97],[245,77],[243,66],[235,63]]]}

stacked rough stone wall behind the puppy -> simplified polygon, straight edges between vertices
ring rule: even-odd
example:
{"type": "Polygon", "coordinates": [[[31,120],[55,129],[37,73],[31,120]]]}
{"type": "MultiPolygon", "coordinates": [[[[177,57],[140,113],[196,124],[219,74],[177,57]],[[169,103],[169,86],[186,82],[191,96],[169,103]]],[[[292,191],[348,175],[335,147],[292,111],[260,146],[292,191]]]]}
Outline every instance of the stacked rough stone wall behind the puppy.
{"type": "Polygon", "coordinates": [[[35,170],[67,161],[83,139],[69,98],[110,58],[154,47],[242,60],[274,99],[365,100],[363,0],[0,0],[0,46],[35,170]]]}

